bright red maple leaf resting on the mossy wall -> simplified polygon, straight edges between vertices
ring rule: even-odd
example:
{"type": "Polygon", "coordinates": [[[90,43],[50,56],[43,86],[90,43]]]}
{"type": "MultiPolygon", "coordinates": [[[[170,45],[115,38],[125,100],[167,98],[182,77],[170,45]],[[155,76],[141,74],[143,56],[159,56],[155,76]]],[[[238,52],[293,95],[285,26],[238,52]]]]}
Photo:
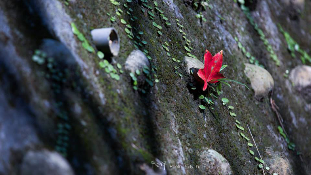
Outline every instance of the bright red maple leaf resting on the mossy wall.
{"type": "Polygon", "coordinates": [[[197,75],[204,81],[203,90],[206,90],[208,83],[217,83],[218,79],[225,78],[221,73],[219,73],[222,65],[222,50],[216,55],[205,50],[204,54],[204,68],[197,72],[197,75]]]}

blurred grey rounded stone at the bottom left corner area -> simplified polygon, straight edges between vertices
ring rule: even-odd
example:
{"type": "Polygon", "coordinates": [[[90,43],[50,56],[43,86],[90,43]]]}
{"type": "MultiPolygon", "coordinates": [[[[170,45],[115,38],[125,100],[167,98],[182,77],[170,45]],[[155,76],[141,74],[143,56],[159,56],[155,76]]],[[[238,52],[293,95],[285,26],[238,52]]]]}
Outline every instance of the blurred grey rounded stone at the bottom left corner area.
{"type": "Polygon", "coordinates": [[[74,175],[66,159],[48,150],[28,151],[21,164],[21,175],[74,175]]]}

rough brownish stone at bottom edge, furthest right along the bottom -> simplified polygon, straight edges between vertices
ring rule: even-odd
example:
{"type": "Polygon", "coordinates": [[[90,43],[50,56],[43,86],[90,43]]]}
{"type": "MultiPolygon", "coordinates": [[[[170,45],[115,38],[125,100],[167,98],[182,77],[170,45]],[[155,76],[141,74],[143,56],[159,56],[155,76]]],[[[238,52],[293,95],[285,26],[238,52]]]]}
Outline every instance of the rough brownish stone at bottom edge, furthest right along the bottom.
{"type": "Polygon", "coordinates": [[[293,169],[288,159],[278,151],[273,151],[271,148],[266,149],[268,158],[264,159],[266,165],[270,167],[270,173],[277,173],[279,175],[293,175],[293,169]]]}

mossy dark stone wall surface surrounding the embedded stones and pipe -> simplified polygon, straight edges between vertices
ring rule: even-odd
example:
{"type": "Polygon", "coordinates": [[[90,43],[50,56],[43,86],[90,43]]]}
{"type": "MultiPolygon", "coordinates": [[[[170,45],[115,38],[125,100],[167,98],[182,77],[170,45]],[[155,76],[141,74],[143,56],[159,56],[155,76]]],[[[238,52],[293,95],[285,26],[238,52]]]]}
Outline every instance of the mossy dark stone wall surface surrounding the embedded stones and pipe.
{"type": "Polygon", "coordinates": [[[305,1],[303,8],[283,1],[246,2],[271,45],[269,51],[234,1],[210,0],[206,10],[195,9],[190,1],[156,1],[159,12],[151,1],[112,2],[116,3],[0,1],[0,138],[5,138],[0,141],[0,174],[18,173],[27,151],[42,149],[63,154],[75,174],[204,174],[196,168],[169,168],[199,165],[202,158],[197,153],[204,148],[222,155],[233,174],[261,174],[254,159],[257,150],[247,145],[253,143],[248,126],[262,159],[270,157],[265,148],[271,147],[288,160],[293,174],[311,171],[311,107],[284,76],[302,61],[298,52],[297,58],[290,55],[277,25],[311,54],[311,2],[305,1]],[[200,12],[205,20],[198,18],[200,12]],[[79,36],[72,33],[72,23],[79,36]],[[104,58],[109,66],[103,68],[102,59],[92,52],[91,48],[97,50],[90,31],[108,27],[117,31],[120,51],[104,58]],[[223,64],[228,67],[221,73],[250,87],[244,73],[244,63],[250,61],[235,37],[274,79],[273,93],[262,101],[233,82],[231,87],[222,85],[220,94],[214,93],[217,98],[208,96],[187,73],[184,57],[204,62],[206,49],[212,55],[223,50],[223,64]],[[46,39],[52,39],[52,44],[46,39]],[[149,69],[140,70],[150,81],[140,83],[137,90],[130,71],[124,69],[136,46],[150,63],[149,69]],[[46,50],[46,55],[37,49],[46,50]],[[279,66],[270,57],[271,49],[279,66]],[[33,61],[34,55],[39,59],[33,61]],[[208,106],[200,95],[214,104],[208,106]],[[229,102],[223,104],[222,98],[229,102]],[[279,107],[295,151],[288,149],[277,129],[280,124],[272,102],[279,107]],[[199,108],[201,104],[205,110],[199,108]],[[152,161],[165,162],[165,171],[152,169],[152,161]]]}

